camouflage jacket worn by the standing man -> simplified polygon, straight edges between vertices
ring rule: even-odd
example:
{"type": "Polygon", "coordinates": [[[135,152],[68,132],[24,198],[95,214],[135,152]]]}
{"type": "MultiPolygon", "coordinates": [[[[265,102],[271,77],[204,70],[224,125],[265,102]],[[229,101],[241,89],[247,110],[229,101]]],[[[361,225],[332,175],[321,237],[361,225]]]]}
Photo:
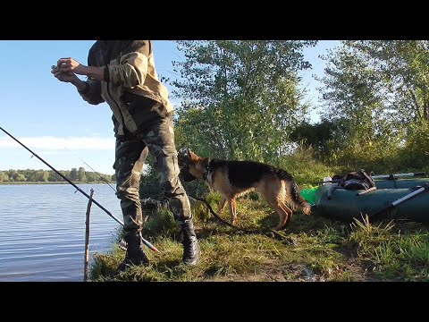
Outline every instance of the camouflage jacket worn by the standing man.
{"type": "Polygon", "coordinates": [[[98,40],[89,49],[88,66],[105,66],[104,80],[88,78],[80,96],[89,104],[106,102],[110,106],[116,135],[123,135],[126,130],[136,132],[145,121],[141,118],[153,114],[142,110],[147,104],[133,104],[139,98],[160,103],[157,106],[164,114],[172,112],[168,90],[156,74],[150,40],[98,40]]]}

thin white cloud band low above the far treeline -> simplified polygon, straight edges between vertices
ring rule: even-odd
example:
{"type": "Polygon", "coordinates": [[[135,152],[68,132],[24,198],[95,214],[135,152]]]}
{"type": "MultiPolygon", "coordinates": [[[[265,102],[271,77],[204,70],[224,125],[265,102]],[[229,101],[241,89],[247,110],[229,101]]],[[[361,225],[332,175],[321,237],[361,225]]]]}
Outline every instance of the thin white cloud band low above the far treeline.
{"type": "MultiPolygon", "coordinates": [[[[22,144],[28,148],[38,148],[46,150],[63,150],[70,148],[73,150],[112,150],[114,149],[114,139],[100,138],[100,137],[33,137],[33,138],[19,138],[22,144]]],[[[0,148],[16,148],[21,147],[18,142],[12,138],[0,138],[0,148]]]]}

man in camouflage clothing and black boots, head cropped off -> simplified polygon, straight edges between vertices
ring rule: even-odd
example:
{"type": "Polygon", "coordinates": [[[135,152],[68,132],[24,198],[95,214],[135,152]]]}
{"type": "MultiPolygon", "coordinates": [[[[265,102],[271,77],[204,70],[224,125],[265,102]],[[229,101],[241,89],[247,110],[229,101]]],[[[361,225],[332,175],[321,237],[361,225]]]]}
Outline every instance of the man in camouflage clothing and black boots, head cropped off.
{"type": "Polygon", "coordinates": [[[121,199],[127,254],[118,271],[147,264],[141,241],[140,175],[147,149],[155,158],[164,196],[181,225],[183,263],[195,265],[199,246],[189,199],[179,180],[174,144],[172,105],[158,80],[150,40],[98,40],[88,52],[88,66],[61,58],[51,71],[70,82],[89,104],[106,102],[113,111],[116,138],[114,169],[116,195],[121,199]],[[76,75],[85,75],[86,81],[76,75]]]}

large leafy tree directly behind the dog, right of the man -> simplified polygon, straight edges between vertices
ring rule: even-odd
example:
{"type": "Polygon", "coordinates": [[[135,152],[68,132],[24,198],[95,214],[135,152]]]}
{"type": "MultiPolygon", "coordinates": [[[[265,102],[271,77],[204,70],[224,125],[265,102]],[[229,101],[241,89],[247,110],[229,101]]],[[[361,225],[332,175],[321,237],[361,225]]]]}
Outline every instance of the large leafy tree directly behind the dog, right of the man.
{"type": "Polygon", "coordinates": [[[268,161],[282,152],[307,114],[299,71],[302,50],[316,41],[178,41],[184,62],[172,81],[176,140],[202,155],[268,161]]]}

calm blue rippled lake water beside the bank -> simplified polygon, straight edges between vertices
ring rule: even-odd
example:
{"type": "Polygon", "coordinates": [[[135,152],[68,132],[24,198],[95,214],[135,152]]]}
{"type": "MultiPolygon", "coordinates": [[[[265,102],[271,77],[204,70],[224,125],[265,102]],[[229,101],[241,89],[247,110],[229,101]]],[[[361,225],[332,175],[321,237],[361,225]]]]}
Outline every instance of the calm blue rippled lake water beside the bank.
{"type": "MultiPolygon", "coordinates": [[[[80,189],[122,220],[119,199],[106,184],[80,189]]],[[[0,185],[0,282],[83,281],[88,199],[70,184],[0,185]]],[[[92,204],[90,262],[112,249],[120,225],[92,204]]]]}

